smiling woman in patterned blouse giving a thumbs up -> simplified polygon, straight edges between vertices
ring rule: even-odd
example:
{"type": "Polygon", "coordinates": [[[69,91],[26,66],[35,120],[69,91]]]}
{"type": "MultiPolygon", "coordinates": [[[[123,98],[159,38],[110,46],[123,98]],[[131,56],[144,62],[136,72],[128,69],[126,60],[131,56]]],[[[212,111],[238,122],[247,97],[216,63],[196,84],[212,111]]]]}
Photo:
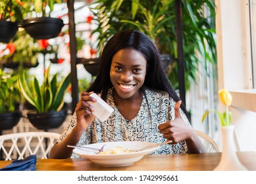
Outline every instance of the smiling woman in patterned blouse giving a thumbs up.
{"type": "Polygon", "coordinates": [[[123,30],[105,45],[99,74],[80,94],[72,120],[50,157],[77,157],[67,144],[116,141],[172,141],[152,154],[205,152],[186,114],[153,41],[138,30],[123,30]],[[114,109],[107,120],[93,116],[91,103],[97,99],[92,93],[100,94],[114,109]]]}

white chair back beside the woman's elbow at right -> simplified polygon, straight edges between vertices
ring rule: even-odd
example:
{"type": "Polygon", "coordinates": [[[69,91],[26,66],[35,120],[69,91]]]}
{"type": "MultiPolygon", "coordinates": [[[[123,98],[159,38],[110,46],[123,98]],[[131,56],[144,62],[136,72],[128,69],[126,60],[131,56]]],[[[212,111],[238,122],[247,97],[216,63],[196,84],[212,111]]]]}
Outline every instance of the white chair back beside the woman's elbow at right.
{"type": "Polygon", "coordinates": [[[207,152],[220,152],[217,143],[215,143],[215,141],[213,141],[213,139],[209,135],[197,129],[195,129],[195,133],[197,133],[197,136],[205,146],[207,152]]]}

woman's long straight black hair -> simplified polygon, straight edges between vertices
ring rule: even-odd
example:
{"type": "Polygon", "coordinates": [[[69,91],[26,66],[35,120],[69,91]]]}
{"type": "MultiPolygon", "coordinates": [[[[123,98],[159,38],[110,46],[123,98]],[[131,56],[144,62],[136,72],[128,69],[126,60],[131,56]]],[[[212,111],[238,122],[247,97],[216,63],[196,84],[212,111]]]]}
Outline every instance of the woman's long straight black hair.
{"type": "MultiPolygon", "coordinates": [[[[147,35],[138,30],[122,30],[107,41],[100,58],[99,74],[87,91],[101,93],[101,98],[106,101],[107,91],[113,87],[110,80],[112,58],[115,53],[126,48],[139,51],[147,60],[147,74],[145,75],[144,86],[167,91],[174,101],[180,101],[180,97],[174,91],[165,74],[157,47],[147,35]]],[[[181,104],[181,108],[188,116],[184,103],[181,104]]]]}

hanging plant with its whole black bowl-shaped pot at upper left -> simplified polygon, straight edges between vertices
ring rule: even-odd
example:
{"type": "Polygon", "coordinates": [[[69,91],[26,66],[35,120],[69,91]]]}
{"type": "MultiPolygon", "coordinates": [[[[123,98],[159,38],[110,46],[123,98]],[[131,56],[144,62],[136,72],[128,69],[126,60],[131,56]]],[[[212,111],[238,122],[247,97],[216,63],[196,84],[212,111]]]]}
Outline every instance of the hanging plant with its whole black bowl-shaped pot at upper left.
{"type": "Polygon", "coordinates": [[[36,12],[37,17],[25,18],[22,27],[34,39],[50,39],[57,37],[63,28],[61,18],[51,17],[55,3],[63,3],[61,0],[28,0],[36,12]],[[49,11],[47,11],[49,10],[49,11]]]}

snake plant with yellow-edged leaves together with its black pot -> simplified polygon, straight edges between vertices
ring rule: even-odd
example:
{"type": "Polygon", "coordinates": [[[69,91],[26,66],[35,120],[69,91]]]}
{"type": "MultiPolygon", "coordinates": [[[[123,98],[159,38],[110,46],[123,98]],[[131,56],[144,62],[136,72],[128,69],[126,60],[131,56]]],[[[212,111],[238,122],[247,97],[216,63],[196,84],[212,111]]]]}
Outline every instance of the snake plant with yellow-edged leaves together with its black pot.
{"type": "Polygon", "coordinates": [[[63,108],[64,94],[70,85],[70,74],[62,78],[61,81],[58,81],[58,73],[51,78],[50,66],[45,72],[41,85],[36,76],[28,76],[26,72],[23,72],[18,78],[20,92],[36,108],[36,110],[28,111],[28,119],[33,126],[45,130],[63,124],[66,118],[66,109],[63,108]]]}

